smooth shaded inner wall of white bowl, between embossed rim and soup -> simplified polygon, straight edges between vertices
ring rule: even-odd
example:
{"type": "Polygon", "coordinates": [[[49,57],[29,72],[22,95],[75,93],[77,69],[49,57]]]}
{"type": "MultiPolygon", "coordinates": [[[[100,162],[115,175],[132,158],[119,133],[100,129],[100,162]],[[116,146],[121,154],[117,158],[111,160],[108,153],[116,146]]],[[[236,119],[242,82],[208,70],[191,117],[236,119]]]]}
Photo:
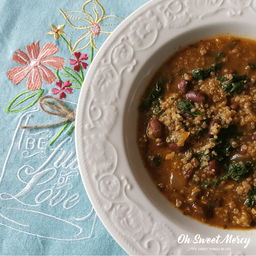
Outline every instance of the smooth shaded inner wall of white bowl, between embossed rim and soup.
{"type": "MultiPolygon", "coordinates": [[[[158,191],[143,166],[136,142],[139,100],[156,70],[180,47],[184,47],[185,45],[200,39],[212,38],[214,36],[239,36],[255,39],[255,31],[255,25],[226,23],[198,27],[174,38],[172,38],[172,35],[170,34],[169,42],[163,45],[160,49],[156,49],[155,52],[152,52],[152,55],[148,56],[148,59],[142,64],[142,68],[133,81],[126,99],[123,116],[123,142],[125,145],[127,161],[129,162],[137,185],[141,189],[141,193],[144,193],[149,201],[155,205],[155,208],[172,222],[179,223],[179,225],[183,225],[185,228],[192,229],[195,232],[200,232],[200,234],[209,234],[209,227],[203,224],[198,225],[197,221],[189,219],[187,216],[178,212],[178,210],[175,209],[158,191]]],[[[219,232],[219,229],[211,228],[211,232],[219,232]]],[[[246,233],[246,231],[243,232],[246,233]]],[[[252,233],[252,230],[250,233],[252,233]]]]}

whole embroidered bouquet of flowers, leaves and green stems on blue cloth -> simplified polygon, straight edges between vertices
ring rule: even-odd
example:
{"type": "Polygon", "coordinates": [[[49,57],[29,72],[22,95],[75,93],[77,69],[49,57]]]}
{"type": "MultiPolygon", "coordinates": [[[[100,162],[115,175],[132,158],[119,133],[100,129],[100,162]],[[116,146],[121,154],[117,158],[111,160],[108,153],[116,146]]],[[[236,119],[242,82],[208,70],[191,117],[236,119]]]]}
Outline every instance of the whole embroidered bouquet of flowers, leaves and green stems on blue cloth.
{"type": "MultiPolygon", "coordinates": [[[[65,60],[63,58],[52,56],[56,52],[59,52],[56,44],[47,43],[40,51],[39,42],[37,42],[26,46],[27,54],[20,49],[18,52],[14,52],[12,60],[22,66],[9,69],[7,71],[8,78],[12,80],[13,84],[19,84],[26,76],[28,76],[26,82],[28,90],[20,92],[13,98],[13,100],[11,100],[6,108],[6,113],[16,113],[32,107],[44,93],[44,89],[41,89],[41,78],[43,78],[47,84],[52,84],[56,78],[58,79],[58,82],[55,84],[59,89],[53,88],[52,93],[55,95],[59,94],[60,99],[66,98],[66,93],[72,94],[73,89],[81,89],[85,75],[84,69],[88,66],[88,64],[82,60],[87,60],[88,56],[87,54],[82,54],[79,50],[85,49],[87,46],[91,45],[91,56],[89,62],[91,64],[93,59],[93,50],[98,51],[98,48],[95,46],[95,37],[101,36],[102,34],[111,34],[110,31],[104,31],[104,29],[102,29],[104,26],[113,27],[120,24],[106,24],[105,20],[124,20],[116,15],[105,16],[105,10],[98,0],[88,0],[85,2],[82,6],[82,11],[59,11],[67,20],[71,28],[74,28],[71,31],[69,39],[67,40],[64,37],[66,36],[66,33],[63,31],[65,24],[59,25],[58,27],[51,24],[50,26],[52,30],[48,31],[47,34],[53,36],[55,40],[61,38],[64,43],[67,44],[70,53],[75,57],[75,60],[69,59],[69,64],[73,65],[73,69],[64,66],[65,60]],[[85,12],[85,9],[90,8],[92,9],[92,14],[85,12]],[[69,13],[78,13],[81,14],[82,17],[76,17],[69,13]],[[76,24],[74,25],[70,20],[74,20],[76,24]],[[82,34],[79,34],[80,31],[82,31],[82,34]],[[76,42],[73,44],[74,38],[76,42]],[[53,72],[45,65],[54,68],[55,74],[53,74],[53,72]]],[[[113,28],[111,30],[113,30],[113,28]]],[[[57,140],[60,134],[67,129],[68,125],[69,122],[61,128],[60,132],[58,132],[49,145],[52,145],[57,140]]],[[[75,124],[73,124],[67,132],[68,135],[73,132],[74,127],[75,124]]]]}

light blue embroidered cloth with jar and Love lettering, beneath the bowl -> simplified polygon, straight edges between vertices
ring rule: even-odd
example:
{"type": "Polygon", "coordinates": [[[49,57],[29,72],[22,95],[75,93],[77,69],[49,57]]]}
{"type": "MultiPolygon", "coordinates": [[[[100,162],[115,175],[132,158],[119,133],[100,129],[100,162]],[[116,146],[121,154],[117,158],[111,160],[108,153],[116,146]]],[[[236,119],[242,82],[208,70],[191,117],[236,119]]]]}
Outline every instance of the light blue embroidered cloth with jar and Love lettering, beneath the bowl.
{"type": "Polygon", "coordinates": [[[86,195],[73,119],[39,102],[49,95],[72,113],[98,49],[146,2],[0,1],[1,255],[127,255],[86,195]]]}

